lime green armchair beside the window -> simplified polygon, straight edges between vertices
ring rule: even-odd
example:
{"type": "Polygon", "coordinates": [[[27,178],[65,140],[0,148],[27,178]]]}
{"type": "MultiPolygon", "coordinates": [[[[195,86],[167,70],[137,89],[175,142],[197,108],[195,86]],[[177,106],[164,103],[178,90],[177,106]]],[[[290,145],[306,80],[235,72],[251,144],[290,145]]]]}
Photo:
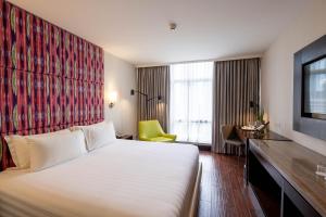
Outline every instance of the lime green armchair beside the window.
{"type": "Polygon", "coordinates": [[[165,133],[156,119],[142,120],[138,124],[138,139],[152,142],[174,142],[176,135],[165,133]]]}

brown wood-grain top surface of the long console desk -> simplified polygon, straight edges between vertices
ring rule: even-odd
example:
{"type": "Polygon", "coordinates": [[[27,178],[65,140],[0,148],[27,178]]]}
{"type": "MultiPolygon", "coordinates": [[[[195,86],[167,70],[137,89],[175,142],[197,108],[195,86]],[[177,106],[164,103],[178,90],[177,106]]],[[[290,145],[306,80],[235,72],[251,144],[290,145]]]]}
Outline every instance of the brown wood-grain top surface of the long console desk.
{"type": "Polygon", "coordinates": [[[326,180],[315,175],[326,156],[296,142],[253,139],[255,149],[322,215],[326,216],[326,180]]]}

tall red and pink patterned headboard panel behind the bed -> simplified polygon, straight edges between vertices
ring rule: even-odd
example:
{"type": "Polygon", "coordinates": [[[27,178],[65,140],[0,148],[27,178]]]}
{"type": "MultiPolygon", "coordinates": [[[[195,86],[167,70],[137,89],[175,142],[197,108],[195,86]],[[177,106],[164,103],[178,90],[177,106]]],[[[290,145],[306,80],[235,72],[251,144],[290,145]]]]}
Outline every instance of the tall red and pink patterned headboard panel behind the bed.
{"type": "Polygon", "coordinates": [[[0,0],[0,170],[4,135],[102,122],[103,84],[101,48],[0,0]]]}

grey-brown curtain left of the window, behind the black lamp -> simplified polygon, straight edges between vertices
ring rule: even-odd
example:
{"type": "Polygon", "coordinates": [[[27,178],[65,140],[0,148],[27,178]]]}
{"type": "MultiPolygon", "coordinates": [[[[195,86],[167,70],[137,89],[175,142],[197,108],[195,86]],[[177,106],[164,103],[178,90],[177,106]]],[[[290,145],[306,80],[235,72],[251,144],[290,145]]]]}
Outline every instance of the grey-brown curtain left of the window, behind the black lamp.
{"type": "Polygon", "coordinates": [[[162,128],[168,129],[170,66],[137,68],[137,90],[155,98],[146,105],[146,98],[138,94],[137,120],[158,119],[162,128]],[[162,95],[162,100],[158,100],[162,95]],[[148,111],[147,111],[148,107],[148,111]]]}

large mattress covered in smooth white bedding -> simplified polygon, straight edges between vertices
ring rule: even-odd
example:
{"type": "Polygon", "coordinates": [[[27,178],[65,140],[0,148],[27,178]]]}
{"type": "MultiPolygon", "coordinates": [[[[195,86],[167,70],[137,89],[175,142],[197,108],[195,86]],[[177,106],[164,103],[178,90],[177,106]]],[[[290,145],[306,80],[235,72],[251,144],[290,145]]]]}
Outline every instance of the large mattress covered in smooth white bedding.
{"type": "Polygon", "coordinates": [[[0,174],[0,216],[187,216],[199,167],[191,144],[116,140],[29,173],[0,174]]]}

